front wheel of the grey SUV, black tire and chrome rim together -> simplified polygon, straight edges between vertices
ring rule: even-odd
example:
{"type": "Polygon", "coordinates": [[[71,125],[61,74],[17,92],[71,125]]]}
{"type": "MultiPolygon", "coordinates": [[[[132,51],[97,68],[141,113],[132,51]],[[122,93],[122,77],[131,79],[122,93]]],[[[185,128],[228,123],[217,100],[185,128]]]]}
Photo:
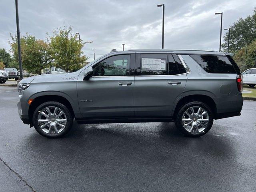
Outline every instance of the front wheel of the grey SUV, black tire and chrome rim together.
{"type": "Polygon", "coordinates": [[[45,102],[33,114],[36,131],[48,138],[60,138],[72,128],[70,110],[59,102],[45,102]]]}

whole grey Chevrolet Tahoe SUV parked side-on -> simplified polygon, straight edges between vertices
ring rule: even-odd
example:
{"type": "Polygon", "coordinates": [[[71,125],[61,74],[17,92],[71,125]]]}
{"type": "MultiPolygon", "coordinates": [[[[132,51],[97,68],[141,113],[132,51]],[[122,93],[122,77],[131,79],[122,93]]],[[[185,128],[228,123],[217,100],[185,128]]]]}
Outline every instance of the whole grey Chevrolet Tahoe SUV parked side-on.
{"type": "Polygon", "coordinates": [[[200,50],[112,50],[73,73],[20,81],[25,124],[58,138],[78,124],[175,122],[206,134],[214,119],[239,116],[243,76],[232,54],[200,50]]]}

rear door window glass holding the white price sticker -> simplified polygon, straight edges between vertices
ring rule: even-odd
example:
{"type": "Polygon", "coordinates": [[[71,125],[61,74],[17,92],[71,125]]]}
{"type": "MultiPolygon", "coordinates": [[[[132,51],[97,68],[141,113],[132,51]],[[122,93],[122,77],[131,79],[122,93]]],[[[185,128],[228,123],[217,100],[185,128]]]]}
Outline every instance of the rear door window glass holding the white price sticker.
{"type": "Polygon", "coordinates": [[[141,75],[167,75],[167,54],[140,54],[141,75]]]}

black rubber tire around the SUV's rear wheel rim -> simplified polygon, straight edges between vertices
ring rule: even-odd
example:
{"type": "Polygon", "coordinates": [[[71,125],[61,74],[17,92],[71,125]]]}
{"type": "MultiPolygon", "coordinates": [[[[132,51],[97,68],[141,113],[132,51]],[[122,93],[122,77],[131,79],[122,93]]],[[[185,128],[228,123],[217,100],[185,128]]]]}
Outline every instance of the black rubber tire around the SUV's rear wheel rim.
{"type": "Polygon", "coordinates": [[[213,124],[213,113],[212,113],[212,110],[210,109],[210,107],[208,105],[206,105],[205,103],[203,102],[199,102],[199,101],[193,101],[193,102],[189,102],[187,104],[183,104],[179,110],[178,110],[178,113],[175,117],[175,125],[176,127],[178,128],[178,130],[184,134],[185,136],[189,136],[189,137],[200,137],[204,134],[206,134],[211,128],[212,128],[212,124],[213,124]],[[208,113],[208,116],[209,116],[209,121],[208,121],[208,124],[206,126],[206,128],[202,131],[202,132],[199,132],[199,133],[192,133],[192,132],[188,132],[188,130],[186,130],[184,127],[183,127],[183,124],[182,124],[182,118],[183,118],[183,114],[186,110],[188,110],[189,108],[191,107],[195,107],[195,106],[198,106],[198,107],[201,107],[203,108],[207,113],[208,113]]]}

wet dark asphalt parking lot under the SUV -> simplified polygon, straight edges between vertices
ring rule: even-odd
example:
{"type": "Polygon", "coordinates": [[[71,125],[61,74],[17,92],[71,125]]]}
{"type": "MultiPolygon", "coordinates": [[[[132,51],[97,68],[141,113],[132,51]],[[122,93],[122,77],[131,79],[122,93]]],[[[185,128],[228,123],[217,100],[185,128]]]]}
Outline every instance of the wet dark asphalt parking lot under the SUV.
{"type": "Polygon", "coordinates": [[[73,124],[61,139],[22,123],[0,87],[0,191],[256,191],[256,102],[201,138],[173,123],[73,124]]]}

